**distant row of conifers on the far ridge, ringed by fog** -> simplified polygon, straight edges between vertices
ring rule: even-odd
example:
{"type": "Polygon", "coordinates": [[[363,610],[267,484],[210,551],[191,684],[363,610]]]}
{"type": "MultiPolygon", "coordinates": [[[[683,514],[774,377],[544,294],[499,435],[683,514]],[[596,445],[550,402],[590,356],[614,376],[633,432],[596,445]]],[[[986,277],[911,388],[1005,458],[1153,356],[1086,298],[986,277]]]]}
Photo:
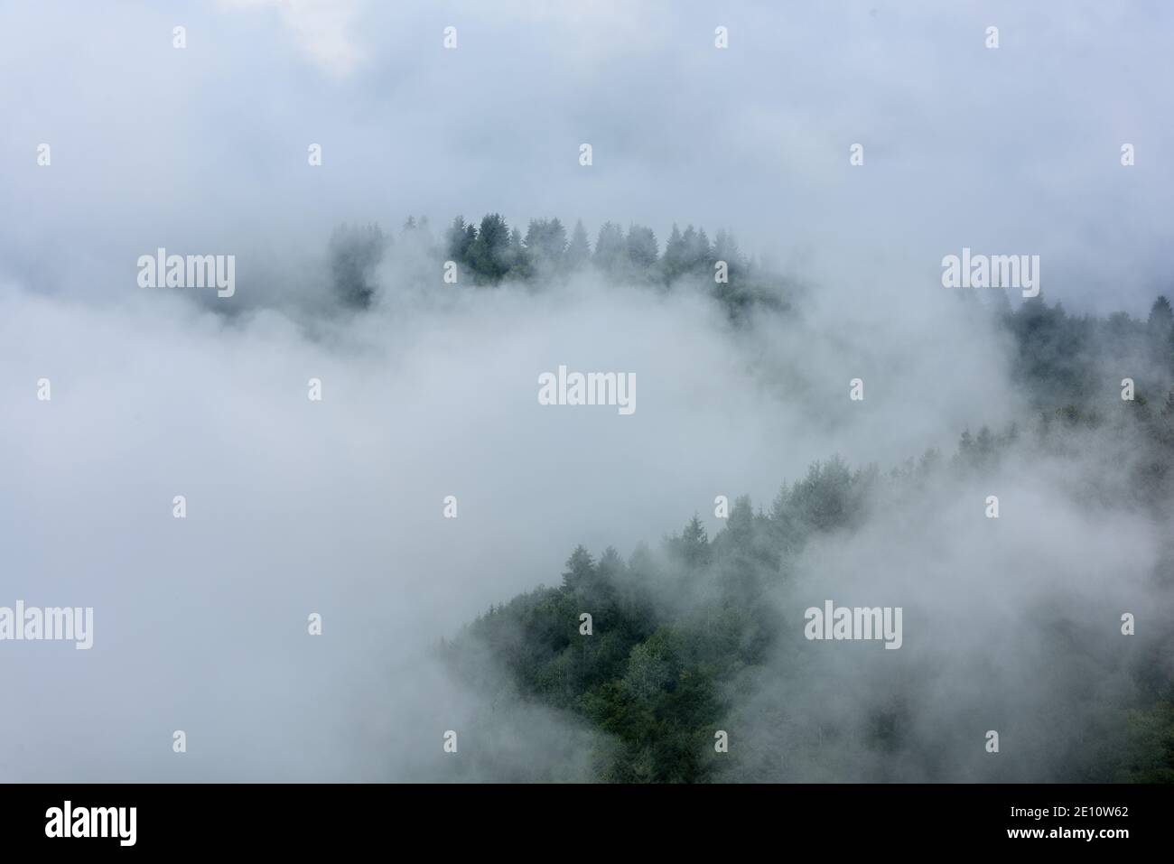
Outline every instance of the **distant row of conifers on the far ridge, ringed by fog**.
{"type": "MultiPolygon", "coordinates": [[[[734,236],[718,230],[710,239],[703,228],[676,224],[661,252],[650,228],[614,222],[600,227],[594,243],[582,221],[568,232],[559,218],[531,220],[525,232],[500,214],[479,223],[457,216],[438,239],[426,217],[409,217],[400,241],[430,256],[443,283],[446,262],[454,270],[448,284],[493,286],[518,282],[538,286],[583,271],[594,271],[613,284],[672,288],[682,281],[703,285],[738,319],[755,306],[783,309],[792,285],[778,274],[742,254],[734,236]]],[[[378,290],[376,271],[396,244],[377,224],[339,227],[330,239],[329,258],[333,290],[348,306],[365,309],[378,290]]]]}

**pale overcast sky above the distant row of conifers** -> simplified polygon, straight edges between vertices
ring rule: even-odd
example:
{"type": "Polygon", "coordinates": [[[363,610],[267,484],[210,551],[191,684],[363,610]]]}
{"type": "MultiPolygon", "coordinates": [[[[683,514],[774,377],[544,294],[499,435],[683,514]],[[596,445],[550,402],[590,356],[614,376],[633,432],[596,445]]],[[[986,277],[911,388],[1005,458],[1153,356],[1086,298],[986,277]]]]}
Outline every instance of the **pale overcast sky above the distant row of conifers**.
{"type": "Polygon", "coordinates": [[[1174,269],[1174,8],[1059,8],[4,4],[0,190],[15,218],[0,274],[116,290],[128,256],[201,245],[259,278],[343,220],[500,211],[581,216],[592,237],[635,221],[662,243],[674,221],[726,227],[812,274],[911,286],[964,245],[1039,254],[1047,296],[1142,313],[1174,269]]]}

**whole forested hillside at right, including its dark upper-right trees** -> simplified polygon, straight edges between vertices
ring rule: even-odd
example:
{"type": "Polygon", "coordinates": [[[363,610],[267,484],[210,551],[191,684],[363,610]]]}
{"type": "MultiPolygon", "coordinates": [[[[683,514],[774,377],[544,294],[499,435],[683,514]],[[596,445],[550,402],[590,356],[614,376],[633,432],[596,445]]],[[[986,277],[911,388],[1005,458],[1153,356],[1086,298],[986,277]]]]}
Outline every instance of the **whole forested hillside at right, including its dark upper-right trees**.
{"type": "MultiPolygon", "coordinates": [[[[478,259],[475,249],[467,254],[478,259]]],[[[655,266],[664,263],[649,255],[648,269],[655,266]]],[[[891,673],[884,696],[861,695],[861,722],[794,721],[797,707],[812,697],[810,673],[803,671],[812,661],[791,585],[804,549],[851,546],[889,507],[932,527],[952,490],[981,487],[1006,463],[1055,464],[1071,472],[1079,507],[1166,529],[1174,501],[1174,320],[1166,298],[1153,304],[1147,320],[1124,313],[1074,318],[1043,299],[997,315],[1013,339],[1019,384],[1035,406],[1023,423],[963,430],[956,452],[930,450],[885,468],[851,466],[829,454],[805,477],[783,482],[774,501],[738,498],[711,538],[694,514],[680,533],[627,558],[614,548],[579,546],[555,587],[492,606],[445,642],[443,655],[468,687],[497,680],[487,668],[504,669],[507,698],[535,701],[583,724],[595,742],[599,781],[893,779],[918,761],[913,776],[957,779],[940,754],[918,754],[919,742],[906,728],[923,710],[920,667],[891,673]],[[1136,370],[1132,399],[1121,398],[1122,370],[1136,370]],[[1098,463],[1120,471],[1098,473],[1098,463]],[[589,635],[581,629],[582,613],[592,616],[589,635]],[[777,735],[807,736],[791,744],[789,756],[771,752],[769,730],[755,733],[753,747],[743,743],[751,734],[740,733],[760,722],[762,693],[775,688],[788,694],[777,708],[780,722],[791,723],[777,735]],[[715,749],[716,730],[729,730],[729,754],[715,749]],[[872,765],[868,774],[856,768],[864,762],[872,765]],[[768,763],[774,767],[764,768],[768,763]]],[[[949,535],[939,539],[951,542],[949,535]]],[[[1168,595],[1174,545],[1166,542],[1165,549],[1149,580],[1168,595]]],[[[947,578],[935,572],[932,560],[924,567],[918,579],[947,578]]],[[[1113,574],[1104,578],[1111,581],[1113,574]]],[[[1174,779],[1172,622],[1151,619],[1138,637],[1141,647],[1122,656],[1115,649],[1072,648],[1078,637],[1095,644],[1101,637],[1060,607],[1040,612],[1038,623],[1054,634],[1048,644],[1055,650],[1053,666],[1041,666],[1039,674],[1073,682],[1048,710],[1058,722],[1079,717],[1064,734],[1084,742],[1060,742],[1046,778],[1174,779]]]]}

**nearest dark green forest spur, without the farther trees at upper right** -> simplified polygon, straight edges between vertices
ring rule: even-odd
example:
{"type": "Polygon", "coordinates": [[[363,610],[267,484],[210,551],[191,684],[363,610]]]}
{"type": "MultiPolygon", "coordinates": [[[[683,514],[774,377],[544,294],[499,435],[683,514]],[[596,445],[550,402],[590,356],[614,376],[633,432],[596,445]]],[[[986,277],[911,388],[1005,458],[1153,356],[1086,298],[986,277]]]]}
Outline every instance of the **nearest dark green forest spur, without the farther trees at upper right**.
{"type": "MultiPolygon", "coordinates": [[[[1016,426],[964,432],[952,457],[929,451],[888,473],[875,466],[852,470],[834,457],[783,485],[765,512],[738,498],[711,539],[694,515],[663,541],[660,554],[640,547],[625,560],[609,547],[596,559],[576,547],[561,585],[491,607],[441,650],[471,687],[486,680],[487,652],[508,669],[519,696],[571,711],[605,733],[600,781],[756,778],[737,758],[716,757],[714,731],[734,727],[730,714],[748,673],[770,650],[796,653],[794,644],[780,644],[794,642],[796,630],[771,598],[785,588],[804,544],[837,533],[849,542],[868,519],[878,487],[895,497],[925,498],[929,518],[926,488],[937,474],[981,473],[1007,448],[1062,448],[1074,434],[1106,426],[1153,444],[1151,460],[1132,478],[1134,504],[1141,511],[1168,507],[1174,396],[1160,410],[1139,400],[1112,420],[1065,406],[1041,412],[1023,432],[1016,426]],[[666,596],[675,602],[666,605],[666,596]],[[582,610],[593,614],[591,636],[580,634],[582,610]]],[[[1154,578],[1174,586],[1174,559],[1154,578]]],[[[1064,779],[1174,782],[1174,682],[1168,668],[1155,671],[1159,656],[1169,656],[1172,647],[1167,630],[1138,657],[1129,670],[1139,686],[1136,703],[1111,707],[1105,748],[1073,760],[1064,779]]],[[[872,740],[863,745],[883,752],[898,733],[884,710],[877,710],[875,723],[872,740]]]]}

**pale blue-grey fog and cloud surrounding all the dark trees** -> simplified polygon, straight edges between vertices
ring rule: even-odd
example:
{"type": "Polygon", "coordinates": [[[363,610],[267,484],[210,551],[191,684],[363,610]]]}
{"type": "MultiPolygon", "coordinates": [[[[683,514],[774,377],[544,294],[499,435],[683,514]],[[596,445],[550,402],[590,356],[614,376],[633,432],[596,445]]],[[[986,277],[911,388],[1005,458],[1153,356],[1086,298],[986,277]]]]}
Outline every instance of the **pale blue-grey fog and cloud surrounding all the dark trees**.
{"type": "MultiPolygon", "coordinates": [[[[1170,15],[6,6],[0,606],[93,607],[94,647],[0,644],[0,779],[512,779],[535,764],[585,778],[581,721],[487,698],[436,660],[438,641],[558,583],[578,544],[627,555],[695,513],[713,535],[716,495],[769,507],[815,460],[886,471],[1030,419],[1007,335],[983,298],[942,288],[940,259],[1040,254],[1048,301],[1143,316],[1174,263],[1159,156],[1174,106],[1154,86],[1170,15]],[[849,168],[857,141],[865,164],[849,168]],[[673,223],[724,227],[803,290],[738,326],[689,285],[594,270],[446,285],[398,238],[375,305],[338,308],[339,222],[398,236],[426,212],[439,237],[486,211],[581,217],[593,239],[605,220],[646,223],[662,248],[673,223]],[[137,288],[135,259],[158,247],[234,254],[235,296],[137,288]],[[538,376],[560,364],[634,373],[636,411],[539,405],[538,376]],[[448,729],[461,771],[443,762],[448,729]]],[[[1140,374],[1105,372],[1108,398],[1140,374]]],[[[731,714],[745,747],[723,777],[1062,776],[1066,738],[1047,723],[1086,717],[1071,716],[1079,682],[1035,676],[1059,650],[1038,625],[1075,628],[1112,701],[1129,688],[1120,612],[1170,612],[1154,580],[1168,522],[1126,505],[1131,441],[1073,446],[876,500],[850,542],[807,548],[772,598],[795,635],[825,598],[903,606],[904,649],[784,639],[731,714]],[[905,772],[818,740],[889,698],[919,700],[893,708],[905,772]],[[992,728],[1031,757],[979,764],[964,742],[992,728]]]]}

